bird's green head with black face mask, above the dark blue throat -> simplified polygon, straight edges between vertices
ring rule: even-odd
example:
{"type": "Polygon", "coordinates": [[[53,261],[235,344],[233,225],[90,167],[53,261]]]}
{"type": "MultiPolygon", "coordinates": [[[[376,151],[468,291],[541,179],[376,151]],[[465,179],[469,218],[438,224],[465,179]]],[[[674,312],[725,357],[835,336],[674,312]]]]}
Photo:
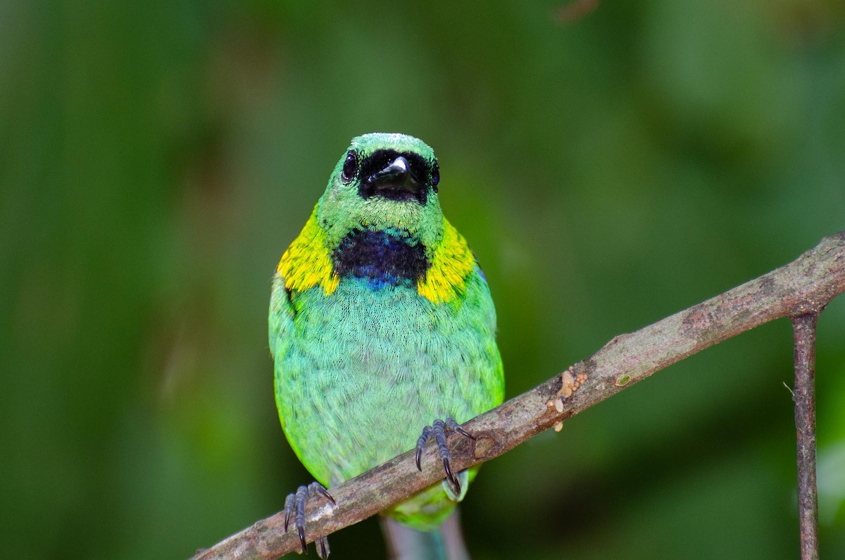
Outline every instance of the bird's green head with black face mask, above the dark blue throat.
{"type": "Polygon", "coordinates": [[[439,167],[423,140],[400,134],[352,139],[317,206],[330,247],[350,233],[385,232],[430,247],[443,235],[439,167]]]}

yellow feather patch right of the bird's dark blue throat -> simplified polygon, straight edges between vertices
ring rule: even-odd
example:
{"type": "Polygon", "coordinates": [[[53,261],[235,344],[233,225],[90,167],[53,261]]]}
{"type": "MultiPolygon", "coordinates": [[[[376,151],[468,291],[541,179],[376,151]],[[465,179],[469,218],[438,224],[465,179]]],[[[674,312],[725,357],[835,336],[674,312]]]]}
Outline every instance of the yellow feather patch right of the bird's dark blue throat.
{"type": "Polygon", "coordinates": [[[425,277],[417,281],[417,292],[433,303],[445,303],[463,294],[466,277],[472,272],[475,257],[466,239],[448,220],[443,220],[443,239],[434,250],[425,277]]]}

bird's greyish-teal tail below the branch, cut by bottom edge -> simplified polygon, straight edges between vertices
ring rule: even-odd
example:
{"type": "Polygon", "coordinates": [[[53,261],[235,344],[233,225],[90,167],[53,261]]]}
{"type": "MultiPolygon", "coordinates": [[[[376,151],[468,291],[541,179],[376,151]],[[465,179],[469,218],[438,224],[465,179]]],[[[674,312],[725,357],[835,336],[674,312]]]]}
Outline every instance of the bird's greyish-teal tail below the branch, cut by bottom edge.
{"type": "Polygon", "coordinates": [[[437,529],[420,531],[381,517],[381,530],[391,560],[470,560],[455,508],[437,529]]]}

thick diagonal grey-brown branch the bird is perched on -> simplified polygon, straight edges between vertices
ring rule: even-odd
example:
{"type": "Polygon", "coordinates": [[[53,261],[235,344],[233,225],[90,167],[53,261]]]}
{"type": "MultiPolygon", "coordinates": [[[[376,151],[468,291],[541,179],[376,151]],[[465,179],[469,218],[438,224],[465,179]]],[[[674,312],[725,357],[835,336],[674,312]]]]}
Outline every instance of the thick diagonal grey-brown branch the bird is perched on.
{"type": "MultiPolygon", "coordinates": [[[[510,451],[521,442],[593,404],[610,398],[691,354],[781,317],[818,314],[845,292],[845,232],[822,239],[798,259],[737,288],[668,316],[637,332],[613,338],[563,375],[511,398],[465,424],[477,437],[450,438],[452,468],[466,469],[510,451]]],[[[412,442],[409,442],[409,444],[412,442]]],[[[323,498],[308,503],[309,542],[367,519],[443,479],[436,446],[417,471],[411,451],[331,488],[337,505],[323,498]]],[[[275,558],[299,550],[297,532],[284,530],[284,514],[200,551],[194,560],[275,558]]]]}

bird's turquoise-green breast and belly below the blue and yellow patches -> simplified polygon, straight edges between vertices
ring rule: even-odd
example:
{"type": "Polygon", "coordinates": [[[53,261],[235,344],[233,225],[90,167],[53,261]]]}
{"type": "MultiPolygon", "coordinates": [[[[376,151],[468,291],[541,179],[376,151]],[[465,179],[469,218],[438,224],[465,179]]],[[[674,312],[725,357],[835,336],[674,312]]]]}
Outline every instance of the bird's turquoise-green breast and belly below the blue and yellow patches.
{"type": "Polygon", "coordinates": [[[270,349],[282,425],[303,464],[332,485],[411,449],[436,418],[501,403],[495,311],[477,268],[434,304],[407,283],[346,276],[329,295],[277,277],[270,349]]]}

